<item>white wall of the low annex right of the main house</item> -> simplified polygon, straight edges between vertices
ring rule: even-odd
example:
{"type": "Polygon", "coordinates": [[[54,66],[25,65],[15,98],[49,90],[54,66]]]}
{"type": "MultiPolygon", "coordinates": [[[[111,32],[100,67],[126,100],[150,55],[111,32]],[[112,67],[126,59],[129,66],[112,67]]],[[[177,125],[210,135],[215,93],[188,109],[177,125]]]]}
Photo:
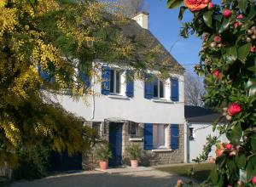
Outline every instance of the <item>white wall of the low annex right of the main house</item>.
{"type": "MultiPolygon", "coordinates": [[[[203,146],[207,143],[207,136],[211,134],[212,136],[218,136],[219,133],[216,130],[214,133],[212,132],[212,125],[211,123],[189,123],[189,127],[193,127],[195,131],[195,139],[189,140],[189,146],[188,146],[188,154],[189,154],[189,162],[193,162],[192,160],[195,159],[197,156],[199,156],[202,153],[203,146]]],[[[189,130],[188,130],[189,133],[189,130]]],[[[189,134],[188,134],[189,135],[189,134]]],[[[219,139],[221,142],[227,143],[227,139],[225,136],[221,136],[219,139]]],[[[212,147],[212,152],[209,154],[209,157],[212,156],[215,158],[215,150],[216,147],[212,147]]]]}

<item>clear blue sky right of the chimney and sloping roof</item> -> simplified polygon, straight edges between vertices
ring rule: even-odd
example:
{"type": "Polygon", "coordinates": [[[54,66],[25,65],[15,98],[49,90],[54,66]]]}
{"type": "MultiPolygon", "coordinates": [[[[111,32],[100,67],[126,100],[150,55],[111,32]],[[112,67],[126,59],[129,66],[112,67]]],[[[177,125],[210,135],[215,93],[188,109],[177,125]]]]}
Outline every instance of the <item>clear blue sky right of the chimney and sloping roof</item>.
{"type": "MultiPolygon", "coordinates": [[[[195,36],[184,39],[179,37],[182,23],[177,20],[179,8],[166,8],[166,0],[146,0],[149,4],[149,30],[157,37],[177,61],[187,69],[193,71],[199,62],[198,53],[201,39],[195,36]],[[178,40],[178,42],[177,42],[178,40]]],[[[187,11],[184,20],[190,20],[192,15],[187,11]]]]}

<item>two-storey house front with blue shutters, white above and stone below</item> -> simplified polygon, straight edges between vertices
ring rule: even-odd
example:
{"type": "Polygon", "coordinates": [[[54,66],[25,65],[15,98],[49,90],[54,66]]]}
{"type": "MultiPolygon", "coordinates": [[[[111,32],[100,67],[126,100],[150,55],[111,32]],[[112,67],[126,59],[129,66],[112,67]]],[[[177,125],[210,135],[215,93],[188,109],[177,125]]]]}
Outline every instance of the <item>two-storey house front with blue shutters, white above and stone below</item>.
{"type": "MultiPolygon", "coordinates": [[[[125,162],[125,147],[130,144],[143,147],[150,165],[183,162],[183,67],[147,30],[148,14],[137,14],[127,29],[130,35],[146,31],[154,45],[160,45],[164,58],[171,59],[170,66],[176,65],[179,71],[170,71],[165,81],[155,77],[157,68],[148,70],[145,80],[131,80],[128,77],[133,76],[132,71],[125,65],[99,63],[98,76],[90,77],[93,94],[86,102],[68,96],[59,96],[58,101],[67,111],[83,116],[87,125],[96,128],[102,139],[109,142],[113,151],[110,166],[125,162]]],[[[93,151],[84,154],[84,168],[94,159],[93,151]]]]}

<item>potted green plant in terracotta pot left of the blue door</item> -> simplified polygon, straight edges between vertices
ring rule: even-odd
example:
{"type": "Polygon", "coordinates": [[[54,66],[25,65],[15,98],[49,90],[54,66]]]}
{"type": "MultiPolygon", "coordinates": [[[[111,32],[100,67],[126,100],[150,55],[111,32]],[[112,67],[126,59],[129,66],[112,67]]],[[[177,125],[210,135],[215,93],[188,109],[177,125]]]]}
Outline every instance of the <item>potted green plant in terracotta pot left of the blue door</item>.
{"type": "Polygon", "coordinates": [[[96,158],[99,160],[100,168],[106,170],[108,168],[108,159],[112,158],[112,152],[108,144],[101,144],[96,149],[96,158]]]}

